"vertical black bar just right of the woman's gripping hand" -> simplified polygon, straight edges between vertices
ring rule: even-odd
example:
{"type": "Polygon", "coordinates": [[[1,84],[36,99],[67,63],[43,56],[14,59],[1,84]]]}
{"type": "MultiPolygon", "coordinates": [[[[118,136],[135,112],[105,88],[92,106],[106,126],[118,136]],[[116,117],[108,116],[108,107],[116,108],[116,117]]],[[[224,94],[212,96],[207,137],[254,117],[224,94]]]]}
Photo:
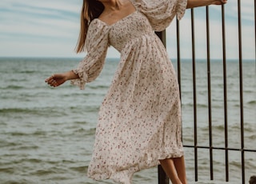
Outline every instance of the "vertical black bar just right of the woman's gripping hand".
{"type": "Polygon", "coordinates": [[[239,46],[239,84],[240,84],[240,123],[241,123],[241,164],[242,183],[245,183],[245,152],[244,152],[244,125],[243,125],[243,86],[242,86],[242,26],[241,1],[238,0],[238,46],[239,46]]]}

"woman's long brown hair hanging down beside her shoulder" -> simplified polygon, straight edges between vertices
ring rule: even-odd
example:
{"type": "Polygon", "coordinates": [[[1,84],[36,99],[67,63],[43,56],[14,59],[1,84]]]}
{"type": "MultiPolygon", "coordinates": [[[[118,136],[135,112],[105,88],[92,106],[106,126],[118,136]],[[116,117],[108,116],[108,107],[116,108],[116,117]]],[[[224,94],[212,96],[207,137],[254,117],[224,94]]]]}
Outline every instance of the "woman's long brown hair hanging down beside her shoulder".
{"type": "Polygon", "coordinates": [[[103,10],[104,6],[102,2],[98,2],[97,0],[83,0],[80,15],[80,33],[76,46],[77,53],[85,51],[86,34],[89,24],[94,18],[98,18],[103,10]]]}

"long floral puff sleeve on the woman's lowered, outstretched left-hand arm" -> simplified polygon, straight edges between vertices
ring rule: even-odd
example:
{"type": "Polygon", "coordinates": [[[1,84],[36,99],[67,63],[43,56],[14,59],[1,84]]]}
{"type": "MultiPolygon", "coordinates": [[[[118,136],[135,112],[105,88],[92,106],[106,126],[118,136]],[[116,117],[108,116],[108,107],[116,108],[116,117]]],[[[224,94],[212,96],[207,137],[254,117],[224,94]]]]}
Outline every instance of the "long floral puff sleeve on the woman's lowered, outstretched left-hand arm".
{"type": "Polygon", "coordinates": [[[74,74],[79,78],[71,81],[81,90],[85,88],[86,82],[92,82],[101,73],[106,59],[108,48],[109,27],[97,19],[90,23],[86,37],[86,57],[79,63],[78,68],[74,69],[74,74]]]}

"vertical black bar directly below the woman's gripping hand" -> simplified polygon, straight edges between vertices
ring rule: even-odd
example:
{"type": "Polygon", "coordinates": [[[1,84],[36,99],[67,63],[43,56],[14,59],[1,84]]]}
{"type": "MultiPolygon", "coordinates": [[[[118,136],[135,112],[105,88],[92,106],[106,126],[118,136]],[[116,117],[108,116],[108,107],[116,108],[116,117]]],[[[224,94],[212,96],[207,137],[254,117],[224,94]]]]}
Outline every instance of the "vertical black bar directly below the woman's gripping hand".
{"type": "Polygon", "coordinates": [[[228,122],[227,122],[227,96],[226,96],[226,30],[225,9],[222,5],[222,57],[223,57],[223,83],[224,83],[224,118],[225,118],[225,157],[226,157],[226,182],[229,182],[229,144],[228,144],[228,122]]]}

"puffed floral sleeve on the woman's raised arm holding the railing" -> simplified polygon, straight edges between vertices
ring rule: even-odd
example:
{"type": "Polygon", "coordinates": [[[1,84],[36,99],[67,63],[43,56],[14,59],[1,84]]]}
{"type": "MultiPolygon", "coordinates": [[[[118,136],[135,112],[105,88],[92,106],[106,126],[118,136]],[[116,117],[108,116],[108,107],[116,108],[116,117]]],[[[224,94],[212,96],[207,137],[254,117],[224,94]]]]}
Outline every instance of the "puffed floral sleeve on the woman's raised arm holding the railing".
{"type": "Polygon", "coordinates": [[[185,14],[187,0],[131,0],[135,8],[149,19],[155,31],[165,30],[175,15],[180,20],[185,14]]]}

